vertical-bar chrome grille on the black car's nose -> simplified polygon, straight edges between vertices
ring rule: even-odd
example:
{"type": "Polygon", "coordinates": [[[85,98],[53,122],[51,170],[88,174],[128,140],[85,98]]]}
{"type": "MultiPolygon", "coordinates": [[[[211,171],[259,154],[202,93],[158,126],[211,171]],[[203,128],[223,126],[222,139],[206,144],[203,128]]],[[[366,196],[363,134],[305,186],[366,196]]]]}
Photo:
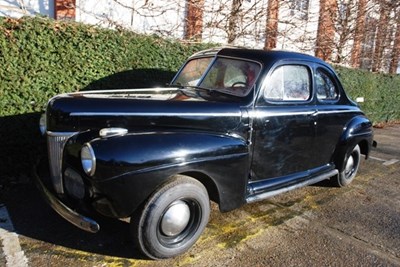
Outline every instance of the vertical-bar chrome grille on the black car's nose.
{"type": "Polygon", "coordinates": [[[50,177],[57,193],[63,194],[62,157],[64,146],[73,132],[47,132],[47,149],[49,153],[50,177]]]}

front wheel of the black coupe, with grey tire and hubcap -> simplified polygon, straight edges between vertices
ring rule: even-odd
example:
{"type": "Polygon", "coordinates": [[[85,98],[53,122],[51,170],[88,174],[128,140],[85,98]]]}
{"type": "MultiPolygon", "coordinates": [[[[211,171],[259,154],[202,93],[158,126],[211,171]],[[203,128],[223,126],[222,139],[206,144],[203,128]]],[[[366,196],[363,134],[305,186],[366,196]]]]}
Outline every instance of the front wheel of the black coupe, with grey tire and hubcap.
{"type": "Polygon", "coordinates": [[[150,196],[142,211],[132,216],[134,243],[151,259],[175,257],[197,241],[209,215],[210,200],[203,184],[187,176],[177,176],[150,196]]]}

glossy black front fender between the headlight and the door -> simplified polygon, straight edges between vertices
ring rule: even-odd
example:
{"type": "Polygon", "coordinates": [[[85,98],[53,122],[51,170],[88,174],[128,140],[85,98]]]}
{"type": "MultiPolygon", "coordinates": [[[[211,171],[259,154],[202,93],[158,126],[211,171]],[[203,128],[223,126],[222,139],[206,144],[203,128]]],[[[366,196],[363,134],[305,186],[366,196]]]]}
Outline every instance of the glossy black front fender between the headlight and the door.
{"type": "Polygon", "coordinates": [[[129,216],[159,186],[182,173],[209,177],[221,210],[244,203],[249,152],[240,137],[152,132],[95,139],[90,144],[97,164],[93,184],[112,203],[117,217],[129,216]]]}

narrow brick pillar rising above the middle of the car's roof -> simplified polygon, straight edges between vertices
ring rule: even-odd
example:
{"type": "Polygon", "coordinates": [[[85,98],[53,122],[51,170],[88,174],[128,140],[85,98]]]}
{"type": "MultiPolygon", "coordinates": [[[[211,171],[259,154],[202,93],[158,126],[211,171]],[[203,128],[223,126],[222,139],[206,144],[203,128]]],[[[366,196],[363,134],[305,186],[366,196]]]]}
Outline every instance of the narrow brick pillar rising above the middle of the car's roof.
{"type": "Polygon", "coordinates": [[[279,0],[269,0],[267,7],[267,26],[265,28],[264,49],[276,48],[278,38],[279,0]]]}

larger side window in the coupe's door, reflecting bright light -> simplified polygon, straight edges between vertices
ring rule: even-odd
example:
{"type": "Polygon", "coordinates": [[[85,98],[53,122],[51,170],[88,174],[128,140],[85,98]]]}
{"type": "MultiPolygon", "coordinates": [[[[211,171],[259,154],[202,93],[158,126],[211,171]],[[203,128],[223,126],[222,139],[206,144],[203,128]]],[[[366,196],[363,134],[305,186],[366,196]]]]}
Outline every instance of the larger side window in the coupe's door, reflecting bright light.
{"type": "Polygon", "coordinates": [[[302,65],[277,67],[264,88],[269,101],[304,101],[310,98],[310,71],[302,65]]]}

